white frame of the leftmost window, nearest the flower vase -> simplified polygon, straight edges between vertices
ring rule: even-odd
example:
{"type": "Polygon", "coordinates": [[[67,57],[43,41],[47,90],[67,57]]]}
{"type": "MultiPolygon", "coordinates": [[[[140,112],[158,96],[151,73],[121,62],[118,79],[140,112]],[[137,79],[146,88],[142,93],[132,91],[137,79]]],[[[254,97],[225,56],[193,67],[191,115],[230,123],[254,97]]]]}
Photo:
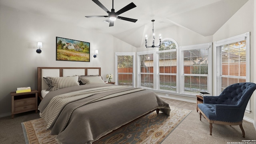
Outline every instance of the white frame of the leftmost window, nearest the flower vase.
{"type": "Polygon", "coordinates": [[[118,56],[133,56],[133,87],[136,87],[136,53],[135,52],[115,52],[115,78],[116,78],[116,84],[118,84],[118,56]]]}

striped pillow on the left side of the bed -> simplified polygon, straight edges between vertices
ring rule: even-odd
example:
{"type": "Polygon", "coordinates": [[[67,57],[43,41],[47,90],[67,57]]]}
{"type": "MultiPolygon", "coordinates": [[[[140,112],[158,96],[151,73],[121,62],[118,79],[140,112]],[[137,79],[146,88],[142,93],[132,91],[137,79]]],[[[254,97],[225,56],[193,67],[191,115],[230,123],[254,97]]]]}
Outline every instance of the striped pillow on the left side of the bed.
{"type": "Polygon", "coordinates": [[[52,81],[52,88],[50,91],[67,88],[71,86],[79,86],[79,76],[67,76],[67,77],[47,77],[52,81]]]}

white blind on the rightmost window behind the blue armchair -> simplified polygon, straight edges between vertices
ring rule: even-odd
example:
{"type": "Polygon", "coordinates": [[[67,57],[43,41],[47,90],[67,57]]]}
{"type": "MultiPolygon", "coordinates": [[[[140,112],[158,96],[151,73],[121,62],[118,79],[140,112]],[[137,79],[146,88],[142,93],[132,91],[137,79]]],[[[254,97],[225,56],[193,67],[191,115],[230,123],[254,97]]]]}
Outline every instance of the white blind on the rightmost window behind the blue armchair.
{"type": "Polygon", "coordinates": [[[227,86],[246,82],[246,40],[216,47],[217,95],[227,86]]]}

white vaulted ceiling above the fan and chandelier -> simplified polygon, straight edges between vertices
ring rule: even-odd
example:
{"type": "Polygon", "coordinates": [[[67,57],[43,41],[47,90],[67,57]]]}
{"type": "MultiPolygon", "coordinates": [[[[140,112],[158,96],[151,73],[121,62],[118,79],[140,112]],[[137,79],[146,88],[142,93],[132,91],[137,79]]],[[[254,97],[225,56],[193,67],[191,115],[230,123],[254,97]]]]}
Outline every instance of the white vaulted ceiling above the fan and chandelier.
{"type": "MultiPolygon", "coordinates": [[[[112,0],[99,0],[111,11],[112,0]]],[[[47,16],[74,26],[108,33],[135,47],[144,42],[144,34],[155,29],[181,26],[202,36],[213,35],[248,0],[114,0],[117,12],[133,2],[137,7],[119,16],[138,19],[128,22],[117,19],[109,27],[108,18],[84,16],[107,15],[92,0],[1,0],[0,4],[47,16]]]]}

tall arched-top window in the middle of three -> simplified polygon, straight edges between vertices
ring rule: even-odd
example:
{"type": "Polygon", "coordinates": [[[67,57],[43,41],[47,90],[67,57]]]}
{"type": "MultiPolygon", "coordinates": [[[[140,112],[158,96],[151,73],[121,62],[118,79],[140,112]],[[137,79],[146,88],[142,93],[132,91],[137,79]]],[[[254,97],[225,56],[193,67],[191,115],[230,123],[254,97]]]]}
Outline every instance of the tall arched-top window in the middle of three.
{"type": "Polygon", "coordinates": [[[177,49],[175,40],[162,42],[157,54],[157,90],[177,92],[177,49]]]}

